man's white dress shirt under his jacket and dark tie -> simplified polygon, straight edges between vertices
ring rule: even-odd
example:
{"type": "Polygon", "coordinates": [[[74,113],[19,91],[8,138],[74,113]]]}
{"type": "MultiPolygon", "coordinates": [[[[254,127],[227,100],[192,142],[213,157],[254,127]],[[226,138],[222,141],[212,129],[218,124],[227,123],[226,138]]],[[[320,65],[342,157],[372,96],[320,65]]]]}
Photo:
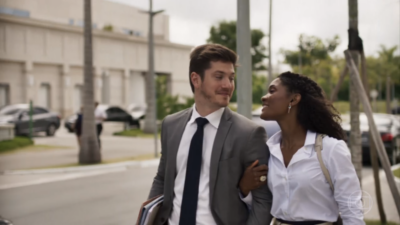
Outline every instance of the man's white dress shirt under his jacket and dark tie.
{"type": "MultiPolygon", "coordinates": [[[[197,225],[217,224],[214,220],[214,217],[211,214],[211,209],[210,209],[210,187],[209,187],[210,162],[211,162],[211,152],[214,144],[214,139],[217,134],[218,126],[221,121],[221,116],[224,113],[224,110],[225,108],[221,108],[205,117],[209,121],[209,123],[204,126],[203,152],[202,152],[203,159],[201,163],[199,197],[197,202],[197,214],[196,214],[197,225]]],[[[168,221],[170,225],[179,224],[183,189],[185,186],[186,165],[189,156],[189,148],[193,135],[197,130],[196,119],[198,117],[201,116],[196,110],[196,105],[194,105],[192,117],[186,124],[186,128],[185,131],[183,132],[181,143],[179,144],[179,149],[176,156],[177,175],[175,178],[175,186],[174,186],[173,209],[171,217],[169,218],[168,221]]]]}

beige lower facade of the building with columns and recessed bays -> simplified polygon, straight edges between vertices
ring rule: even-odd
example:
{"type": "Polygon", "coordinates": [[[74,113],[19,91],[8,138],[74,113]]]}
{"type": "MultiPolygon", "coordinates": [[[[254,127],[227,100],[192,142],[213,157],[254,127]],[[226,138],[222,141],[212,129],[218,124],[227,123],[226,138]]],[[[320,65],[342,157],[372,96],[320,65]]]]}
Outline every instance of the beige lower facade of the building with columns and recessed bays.
{"type": "MultiPolygon", "coordinates": [[[[147,51],[146,38],[93,30],[95,100],[121,107],[144,102],[147,51]]],[[[190,51],[191,46],[155,40],[155,71],[169,74],[173,95],[192,95],[190,51]]],[[[78,110],[76,96],[83,85],[81,28],[0,14],[0,65],[0,83],[10,85],[11,104],[39,101],[41,84],[48,84],[52,110],[63,116],[78,110]],[[22,90],[15,91],[19,87],[22,90]]]]}

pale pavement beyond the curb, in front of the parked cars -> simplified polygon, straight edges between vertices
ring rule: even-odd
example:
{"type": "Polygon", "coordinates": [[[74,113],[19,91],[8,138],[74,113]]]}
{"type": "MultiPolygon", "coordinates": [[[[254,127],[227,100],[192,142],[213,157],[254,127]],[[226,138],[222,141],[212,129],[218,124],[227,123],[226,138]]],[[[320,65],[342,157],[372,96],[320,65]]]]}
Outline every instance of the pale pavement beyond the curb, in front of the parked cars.
{"type": "MultiPolygon", "coordinates": [[[[121,124],[104,123],[105,132],[101,137],[103,160],[151,155],[154,153],[154,139],[112,136],[113,132],[120,130],[122,130],[121,124]]],[[[73,133],[68,133],[63,127],[57,131],[55,137],[46,137],[39,134],[34,138],[34,141],[37,145],[63,146],[67,148],[1,155],[0,171],[74,164],[78,161],[79,149],[76,137],[73,133]]]]}

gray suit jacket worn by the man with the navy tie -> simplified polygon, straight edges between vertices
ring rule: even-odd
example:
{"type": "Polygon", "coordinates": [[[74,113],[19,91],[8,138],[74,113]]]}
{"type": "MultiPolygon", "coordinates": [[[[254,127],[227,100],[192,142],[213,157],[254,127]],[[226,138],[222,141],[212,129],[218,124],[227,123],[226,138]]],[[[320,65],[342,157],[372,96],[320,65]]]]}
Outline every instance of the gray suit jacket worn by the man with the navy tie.
{"type": "MultiPolygon", "coordinates": [[[[155,225],[165,224],[172,212],[176,156],[192,108],[167,116],[161,128],[161,160],[149,198],[163,194],[155,225]]],[[[265,129],[226,108],[215,137],[210,165],[210,208],[219,225],[269,224],[272,194],[268,185],[252,191],[252,210],[239,197],[239,181],[255,160],[267,164],[265,129]]]]}

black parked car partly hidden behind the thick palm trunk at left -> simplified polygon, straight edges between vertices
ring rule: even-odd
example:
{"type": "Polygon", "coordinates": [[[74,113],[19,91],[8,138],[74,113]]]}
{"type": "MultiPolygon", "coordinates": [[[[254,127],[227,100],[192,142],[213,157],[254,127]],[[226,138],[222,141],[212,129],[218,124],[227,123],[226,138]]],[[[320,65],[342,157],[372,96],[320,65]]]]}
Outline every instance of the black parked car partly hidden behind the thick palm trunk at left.
{"type": "MultiPolygon", "coordinates": [[[[107,119],[104,121],[112,122],[125,122],[129,127],[135,126],[140,128],[139,120],[134,119],[127,111],[118,106],[98,105],[100,110],[103,110],[107,114],[107,119]]],[[[93,112],[94,113],[94,112],[93,112]]],[[[65,119],[64,127],[69,132],[74,132],[73,124],[77,119],[77,114],[71,115],[65,119]]]]}

